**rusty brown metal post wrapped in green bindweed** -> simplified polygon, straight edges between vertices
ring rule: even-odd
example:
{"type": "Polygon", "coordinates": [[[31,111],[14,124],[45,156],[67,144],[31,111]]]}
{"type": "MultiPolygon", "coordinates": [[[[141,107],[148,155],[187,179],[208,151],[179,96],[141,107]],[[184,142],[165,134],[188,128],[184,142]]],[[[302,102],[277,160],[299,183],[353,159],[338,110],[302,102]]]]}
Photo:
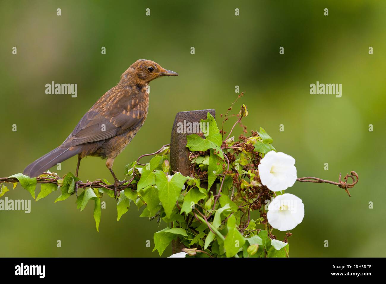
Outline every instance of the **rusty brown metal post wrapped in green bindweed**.
{"type": "MultiPolygon", "coordinates": [[[[186,148],[186,135],[192,133],[185,133],[185,131],[178,131],[178,126],[186,126],[186,123],[196,123],[200,122],[201,119],[207,118],[207,113],[212,114],[216,118],[216,112],[214,109],[203,109],[200,111],[182,111],[176,114],[174,119],[173,128],[171,131],[170,138],[170,168],[174,172],[180,172],[183,175],[190,175],[190,166],[191,162],[189,160],[189,149],[186,148]],[[182,123],[182,124],[180,124],[182,123]]],[[[203,133],[196,133],[203,137],[203,133]]],[[[201,183],[202,187],[207,188],[208,184],[201,183]]],[[[172,251],[173,253],[181,252],[185,246],[177,240],[172,241],[172,251]]]]}

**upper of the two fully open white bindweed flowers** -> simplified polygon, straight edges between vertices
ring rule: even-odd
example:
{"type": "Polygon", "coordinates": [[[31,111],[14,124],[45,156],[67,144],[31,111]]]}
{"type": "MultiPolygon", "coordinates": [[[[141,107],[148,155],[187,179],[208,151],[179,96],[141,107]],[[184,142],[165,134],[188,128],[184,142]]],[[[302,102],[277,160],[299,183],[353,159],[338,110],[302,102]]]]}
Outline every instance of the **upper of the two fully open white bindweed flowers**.
{"type": "Polygon", "coordinates": [[[297,179],[295,159],[282,152],[269,151],[258,168],[261,183],[272,191],[285,190],[297,179]]]}

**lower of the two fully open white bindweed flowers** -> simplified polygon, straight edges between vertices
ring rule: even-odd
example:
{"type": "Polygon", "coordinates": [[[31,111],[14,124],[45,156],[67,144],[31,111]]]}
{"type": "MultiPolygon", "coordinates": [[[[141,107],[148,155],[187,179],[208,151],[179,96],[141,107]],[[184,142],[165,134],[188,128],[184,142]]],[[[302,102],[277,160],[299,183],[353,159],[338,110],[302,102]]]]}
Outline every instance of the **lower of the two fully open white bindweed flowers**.
{"type": "Polygon", "coordinates": [[[273,199],[268,205],[268,223],[279,231],[288,231],[303,221],[304,204],[293,194],[284,193],[273,199]]]}

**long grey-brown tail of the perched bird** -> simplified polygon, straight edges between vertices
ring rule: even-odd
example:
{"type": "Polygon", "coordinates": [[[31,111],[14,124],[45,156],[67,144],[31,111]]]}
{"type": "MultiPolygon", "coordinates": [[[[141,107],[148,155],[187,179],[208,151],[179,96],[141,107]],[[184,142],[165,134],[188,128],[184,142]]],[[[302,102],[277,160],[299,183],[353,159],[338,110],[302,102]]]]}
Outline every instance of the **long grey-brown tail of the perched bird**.
{"type": "Polygon", "coordinates": [[[55,148],[46,155],[40,157],[35,162],[29,164],[23,171],[24,175],[29,177],[37,177],[41,173],[45,172],[49,168],[53,167],[57,163],[61,163],[76,154],[79,154],[81,149],[79,146],[70,147],[70,148],[55,148]]]}

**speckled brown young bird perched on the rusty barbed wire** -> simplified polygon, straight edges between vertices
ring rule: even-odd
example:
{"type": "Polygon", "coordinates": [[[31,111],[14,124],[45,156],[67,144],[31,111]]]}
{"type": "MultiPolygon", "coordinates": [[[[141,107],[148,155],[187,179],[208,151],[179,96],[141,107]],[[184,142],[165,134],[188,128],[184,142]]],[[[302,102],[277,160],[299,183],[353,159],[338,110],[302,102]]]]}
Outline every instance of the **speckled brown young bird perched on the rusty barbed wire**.
{"type": "Polygon", "coordinates": [[[28,165],[23,174],[37,177],[57,163],[78,155],[75,172],[75,176],[78,177],[81,159],[86,156],[97,156],[106,160],[106,167],[114,179],[116,197],[117,188],[122,182],[113,172],[114,159],[144,124],[149,109],[148,84],[164,76],[178,76],[178,74],[164,69],[151,60],[135,61],[121,75],[119,83],[108,90],[86,112],[66,140],[28,165]]]}

